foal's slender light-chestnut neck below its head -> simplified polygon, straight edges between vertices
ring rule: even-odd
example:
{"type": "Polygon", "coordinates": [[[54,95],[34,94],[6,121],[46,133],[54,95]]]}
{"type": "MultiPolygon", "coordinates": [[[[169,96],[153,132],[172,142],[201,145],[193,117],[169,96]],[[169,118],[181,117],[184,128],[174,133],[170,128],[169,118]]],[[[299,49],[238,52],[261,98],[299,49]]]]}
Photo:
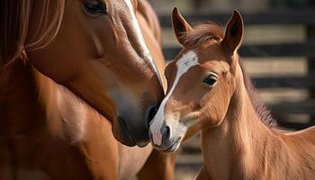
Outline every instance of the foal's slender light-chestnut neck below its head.
{"type": "Polygon", "coordinates": [[[237,73],[237,86],[224,120],[217,128],[202,130],[204,168],[211,179],[247,179],[264,158],[269,130],[257,117],[241,70],[237,73]]]}

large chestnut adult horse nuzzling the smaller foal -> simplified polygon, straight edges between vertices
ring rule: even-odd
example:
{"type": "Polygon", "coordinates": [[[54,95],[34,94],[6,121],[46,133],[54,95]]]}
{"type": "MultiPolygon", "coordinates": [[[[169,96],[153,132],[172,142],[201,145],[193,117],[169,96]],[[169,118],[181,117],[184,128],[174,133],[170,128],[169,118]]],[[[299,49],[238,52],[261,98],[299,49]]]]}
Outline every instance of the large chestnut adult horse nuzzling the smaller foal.
{"type": "Polygon", "coordinates": [[[147,145],[164,95],[148,3],[0,4],[0,179],[126,179],[147,159],[140,177],[172,178],[168,158],[116,141],[147,145]]]}

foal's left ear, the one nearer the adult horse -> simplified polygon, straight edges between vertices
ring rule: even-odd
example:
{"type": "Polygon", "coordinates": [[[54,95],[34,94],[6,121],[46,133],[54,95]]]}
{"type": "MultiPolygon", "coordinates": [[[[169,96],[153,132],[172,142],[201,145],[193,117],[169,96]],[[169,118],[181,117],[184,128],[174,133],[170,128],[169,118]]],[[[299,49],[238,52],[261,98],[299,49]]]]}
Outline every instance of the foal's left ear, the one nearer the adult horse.
{"type": "Polygon", "coordinates": [[[178,42],[184,45],[184,34],[193,31],[193,28],[184,20],[184,17],[179,13],[176,7],[173,10],[172,23],[178,42]]]}

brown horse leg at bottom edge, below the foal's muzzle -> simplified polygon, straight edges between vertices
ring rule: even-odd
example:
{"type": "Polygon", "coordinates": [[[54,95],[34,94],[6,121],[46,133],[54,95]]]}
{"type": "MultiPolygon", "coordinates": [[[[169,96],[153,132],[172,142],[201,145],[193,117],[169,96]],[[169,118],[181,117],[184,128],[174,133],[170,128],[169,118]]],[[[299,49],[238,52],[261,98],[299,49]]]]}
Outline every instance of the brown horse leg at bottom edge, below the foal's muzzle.
{"type": "Polygon", "coordinates": [[[173,180],[176,153],[152,150],[146,164],[138,173],[139,180],[173,180]]]}

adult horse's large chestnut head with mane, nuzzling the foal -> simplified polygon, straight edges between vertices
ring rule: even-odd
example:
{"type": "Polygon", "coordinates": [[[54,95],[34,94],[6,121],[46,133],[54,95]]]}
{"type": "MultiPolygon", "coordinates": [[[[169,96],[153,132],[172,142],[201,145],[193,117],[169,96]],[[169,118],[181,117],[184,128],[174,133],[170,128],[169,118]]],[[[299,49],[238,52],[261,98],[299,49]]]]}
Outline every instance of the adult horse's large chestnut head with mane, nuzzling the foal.
{"type": "Polygon", "coordinates": [[[136,19],[137,4],[4,0],[0,67],[24,50],[33,67],[112,121],[116,139],[144,146],[164,92],[136,19]]]}

